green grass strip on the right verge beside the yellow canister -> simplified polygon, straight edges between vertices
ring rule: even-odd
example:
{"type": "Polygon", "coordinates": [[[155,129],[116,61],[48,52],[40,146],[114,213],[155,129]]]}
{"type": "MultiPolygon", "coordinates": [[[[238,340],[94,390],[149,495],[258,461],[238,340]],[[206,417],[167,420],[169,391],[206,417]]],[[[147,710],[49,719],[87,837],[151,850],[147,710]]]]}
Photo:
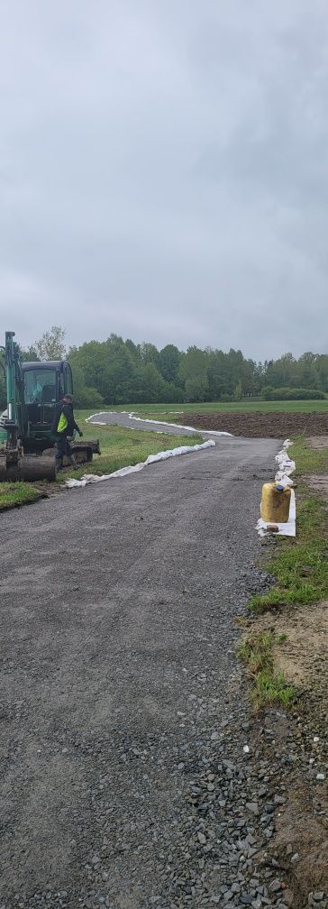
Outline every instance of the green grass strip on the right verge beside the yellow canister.
{"type": "Polygon", "coordinates": [[[298,438],[289,449],[297,474],[304,482],[297,488],[297,535],[276,537],[273,557],[265,567],[277,584],[267,594],[253,596],[254,613],[286,604],[311,604],[328,598],[327,512],[322,499],[306,485],[307,473],[328,473],[328,450],[314,451],[298,438]]]}

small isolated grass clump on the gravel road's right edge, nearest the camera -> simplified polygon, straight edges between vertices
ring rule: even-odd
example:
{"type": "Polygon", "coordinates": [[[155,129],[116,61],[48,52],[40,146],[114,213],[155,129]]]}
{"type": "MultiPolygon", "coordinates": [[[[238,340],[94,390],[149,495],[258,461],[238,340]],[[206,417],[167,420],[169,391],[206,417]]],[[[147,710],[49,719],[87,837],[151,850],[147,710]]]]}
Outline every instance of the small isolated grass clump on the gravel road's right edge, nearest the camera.
{"type": "Polygon", "coordinates": [[[238,654],[252,676],[251,694],[257,709],[273,704],[287,707],[295,700],[296,689],[274,669],[273,646],[285,640],[285,634],[277,636],[266,631],[245,637],[238,646],[238,654]]]}

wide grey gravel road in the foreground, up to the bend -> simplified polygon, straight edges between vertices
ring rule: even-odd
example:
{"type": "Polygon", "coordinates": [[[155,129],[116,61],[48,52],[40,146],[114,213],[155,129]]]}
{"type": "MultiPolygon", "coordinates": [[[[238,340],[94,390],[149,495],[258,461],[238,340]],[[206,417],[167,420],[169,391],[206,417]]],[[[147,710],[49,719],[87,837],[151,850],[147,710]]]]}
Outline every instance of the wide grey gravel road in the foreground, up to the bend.
{"type": "Polygon", "coordinates": [[[278,447],[222,438],[1,516],[1,909],[284,905],[234,654],[278,447]]]}

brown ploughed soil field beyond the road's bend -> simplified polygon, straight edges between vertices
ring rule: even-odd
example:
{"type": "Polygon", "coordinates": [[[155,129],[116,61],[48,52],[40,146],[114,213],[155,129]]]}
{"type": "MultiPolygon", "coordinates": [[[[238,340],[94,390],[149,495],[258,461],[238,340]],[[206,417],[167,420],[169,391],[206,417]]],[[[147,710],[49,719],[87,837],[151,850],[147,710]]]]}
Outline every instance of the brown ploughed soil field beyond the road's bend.
{"type": "Polygon", "coordinates": [[[196,429],[224,431],[248,438],[286,438],[289,435],[327,435],[328,412],[295,414],[273,411],[272,414],[253,414],[236,411],[234,414],[184,414],[179,424],[193,425],[196,429]]]}

